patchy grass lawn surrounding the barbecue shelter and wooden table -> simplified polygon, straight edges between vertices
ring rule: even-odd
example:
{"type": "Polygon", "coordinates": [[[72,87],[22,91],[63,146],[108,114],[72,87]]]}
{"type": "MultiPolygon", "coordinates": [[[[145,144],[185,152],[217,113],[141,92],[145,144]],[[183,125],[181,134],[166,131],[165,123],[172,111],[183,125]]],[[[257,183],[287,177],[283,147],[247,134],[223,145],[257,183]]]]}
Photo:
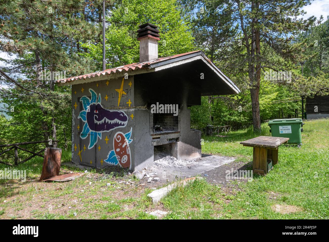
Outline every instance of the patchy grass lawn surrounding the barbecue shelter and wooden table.
{"type": "MultiPolygon", "coordinates": [[[[154,219],[146,212],[157,209],[168,212],[164,219],[328,219],[329,120],[305,121],[303,128],[302,148],[280,146],[279,164],[266,176],[230,180],[226,187],[196,180],[158,204],[146,197],[149,187],[124,172],[90,171],[63,183],[35,181],[42,168],[42,158],[35,158],[17,167],[27,170],[26,182],[0,180],[0,219],[154,219]]],[[[262,135],[270,136],[267,124],[262,135]]],[[[250,165],[252,148],[239,142],[256,136],[247,129],[204,137],[202,152],[237,157],[236,163],[250,165]]],[[[62,161],[69,159],[64,151],[62,161]]],[[[0,164],[4,168],[8,166],[0,164]]],[[[79,170],[61,169],[71,171],[79,170]]]]}

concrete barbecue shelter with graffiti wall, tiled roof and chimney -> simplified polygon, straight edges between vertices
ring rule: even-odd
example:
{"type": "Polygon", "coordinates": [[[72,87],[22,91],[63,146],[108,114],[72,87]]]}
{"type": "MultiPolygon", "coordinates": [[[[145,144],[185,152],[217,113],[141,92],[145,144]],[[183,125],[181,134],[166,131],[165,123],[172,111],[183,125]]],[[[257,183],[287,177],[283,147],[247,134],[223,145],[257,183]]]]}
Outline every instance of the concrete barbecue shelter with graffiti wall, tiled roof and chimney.
{"type": "Polygon", "coordinates": [[[140,170],[153,164],[155,146],[199,158],[201,131],[191,130],[188,107],[240,92],[200,50],[158,58],[157,26],[140,25],[138,40],[139,63],[56,81],[72,85],[73,163],[140,170]],[[152,113],[157,103],[178,104],[178,115],[152,113]]]}

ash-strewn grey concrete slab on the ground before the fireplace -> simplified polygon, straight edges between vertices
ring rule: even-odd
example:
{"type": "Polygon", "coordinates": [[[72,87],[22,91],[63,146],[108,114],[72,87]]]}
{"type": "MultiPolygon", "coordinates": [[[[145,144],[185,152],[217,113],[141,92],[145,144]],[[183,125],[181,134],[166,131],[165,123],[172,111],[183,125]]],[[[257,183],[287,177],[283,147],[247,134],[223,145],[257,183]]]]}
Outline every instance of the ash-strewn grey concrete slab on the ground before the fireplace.
{"type": "Polygon", "coordinates": [[[186,166],[153,166],[146,170],[147,173],[157,173],[161,180],[172,181],[175,178],[185,178],[192,177],[195,175],[200,175],[217,167],[223,166],[225,164],[231,163],[236,158],[218,156],[218,155],[202,155],[201,158],[195,159],[192,163],[186,166]]]}

